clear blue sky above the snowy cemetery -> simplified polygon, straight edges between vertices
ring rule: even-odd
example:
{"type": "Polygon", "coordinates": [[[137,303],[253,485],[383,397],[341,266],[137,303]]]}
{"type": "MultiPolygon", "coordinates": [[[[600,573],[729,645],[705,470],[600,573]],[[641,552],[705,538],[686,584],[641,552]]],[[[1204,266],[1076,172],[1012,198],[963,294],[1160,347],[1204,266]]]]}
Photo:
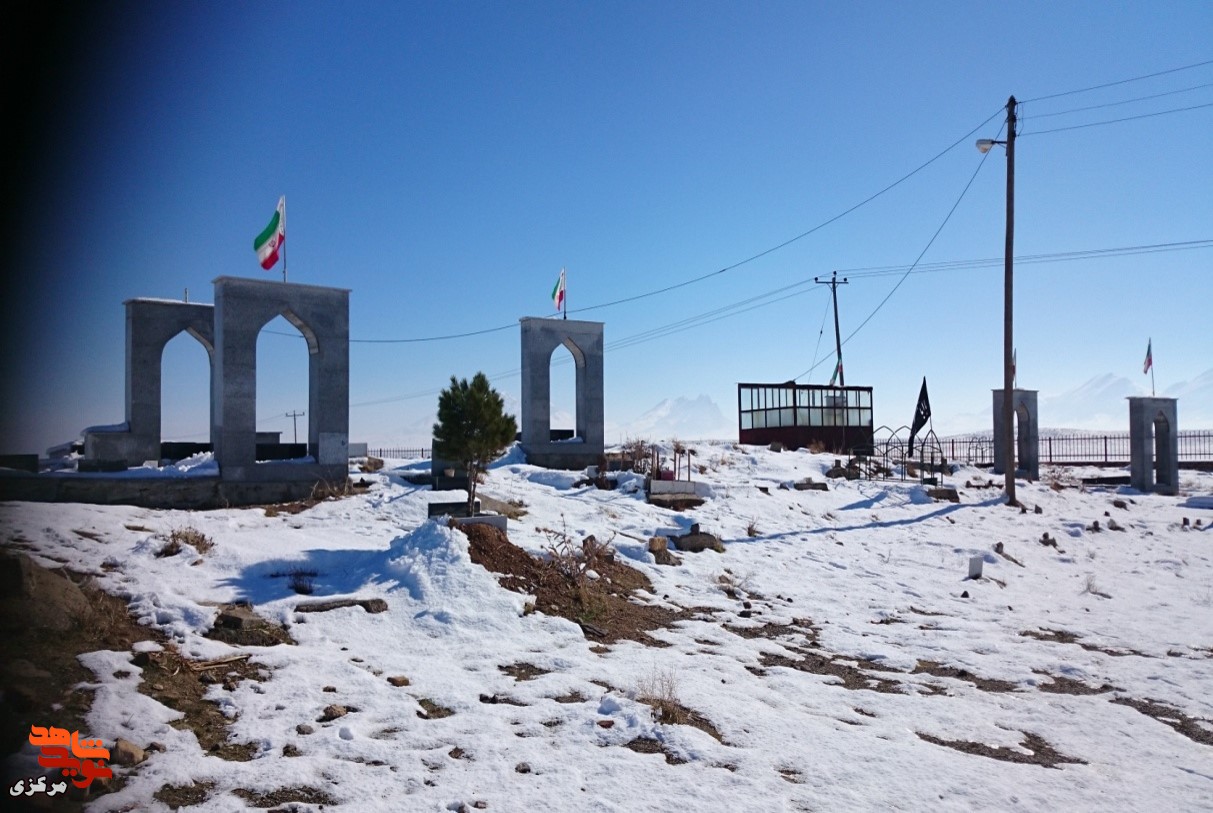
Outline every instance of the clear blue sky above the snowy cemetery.
{"type": "MultiPolygon", "coordinates": [[[[946,428],[1002,386],[1001,262],[904,282],[856,269],[1001,260],[1004,152],[983,161],[973,142],[1004,137],[1012,93],[1016,255],[1205,241],[1016,266],[1021,386],[1149,386],[1151,337],[1160,390],[1213,368],[1205,1],[40,13],[16,34],[34,56],[6,57],[24,123],[5,216],[8,451],[123,420],[124,300],[209,302],[216,277],[280,278],[251,241],[281,194],[291,282],[352,289],[354,440],[416,437],[451,375],[483,370],[517,396],[517,320],[552,313],[562,267],[570,315],[605,323],[611,423],[700,393],[731,419],[738,381],[825,382],[828,295],[811,280],[839,271],[847,382],[873,386],[877,423],[899,426],[927,376],[946,428]],[[1144,118],[1097,124],[1129,116],[1144,118]]],[[[260,428],[286,439],[285,414],[307,408],[292,331],[274,322],[258,345],[260,428]]],[[[166,438],[205,440],[205,352],[181,336],[164,363],[166,438]]],[[[553,399],[571,408],[566,364],[553,399]]]]}

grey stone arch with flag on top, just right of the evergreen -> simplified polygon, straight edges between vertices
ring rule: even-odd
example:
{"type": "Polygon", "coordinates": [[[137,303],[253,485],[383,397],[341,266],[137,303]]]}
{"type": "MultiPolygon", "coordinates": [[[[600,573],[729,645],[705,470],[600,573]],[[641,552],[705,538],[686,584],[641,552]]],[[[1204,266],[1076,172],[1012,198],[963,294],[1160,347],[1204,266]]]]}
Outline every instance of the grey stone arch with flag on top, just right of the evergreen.
{"type": "Polygon", "coordinates": [[[522,445],[526,460],[549,468],[583,468],[605,451],[603,323],[524,318],[522,322],[522,445]],[[576,436],[552,440],[552,353],[564,346],[576,373],[576,436]]]}

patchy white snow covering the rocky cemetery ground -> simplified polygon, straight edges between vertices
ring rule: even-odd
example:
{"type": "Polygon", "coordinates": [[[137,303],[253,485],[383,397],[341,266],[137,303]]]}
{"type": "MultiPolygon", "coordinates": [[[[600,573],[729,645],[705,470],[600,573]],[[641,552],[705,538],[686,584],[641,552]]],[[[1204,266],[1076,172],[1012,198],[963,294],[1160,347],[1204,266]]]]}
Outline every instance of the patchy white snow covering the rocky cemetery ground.
{"type": "Polygon", "coordinates": [[[640,601],[693,610],[653,633],[665,647],[602,647],[526,613],[466,536],[427,521],[450,495],[405,482],[417,462],[355,474],[369,491],[298,514],[0,505],[6,540],[93,574],[192,658],[234,652],[201,633],[237,599],[298,642],[251,648],[269,680],[210,689],[233,740],[256,744],[247,762],[172,728],[177,712],[137,692],[133,653],[85,655],[90,735],[166,746],[115,767],[125,786],[90,809],[169,809],[153,794],[192,783],[211,789],[190,811],[284,788],[349,811],[1213,809],[1213,474],[1181,472],[1174,498],[1021,483],[1021,513],[967,488],[976,470],[946,478],[952,504],[913,479],[781,488],[825,481],[830,455],[695,449],[711,498],[685,513],[648,505],[638,478],[576,487],[517,453],[482,487],[525,505],[509,539],[534,553],[545,528],[611,539],[654,584],[640,601]],[[724,552],[654,563],[645,540],[693,522],[724,552]],[[213,548],[158,558],[186,527],[213,548]],[[974,556],[985,578],[967,580],[974,556]],[[292,570],[317,574],[312,599],[388,610],[298,613],[292,570]],[[637,700],[654,687],[721,740],[656,722],[637,700]],[[319,722],[335,703],[352,711],[319,722]]]}

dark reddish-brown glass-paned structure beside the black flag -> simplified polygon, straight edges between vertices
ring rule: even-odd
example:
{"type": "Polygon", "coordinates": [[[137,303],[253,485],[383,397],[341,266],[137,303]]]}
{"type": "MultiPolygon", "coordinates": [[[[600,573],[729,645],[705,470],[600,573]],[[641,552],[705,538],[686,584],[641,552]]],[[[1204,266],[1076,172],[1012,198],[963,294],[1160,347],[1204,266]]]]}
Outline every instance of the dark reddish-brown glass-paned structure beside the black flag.
{"type": "Polygon", "coordinates": [[[870,454],[872,388],[827,385],[739,383],[741,443],[819,447],[835,454],[870,454]]]}

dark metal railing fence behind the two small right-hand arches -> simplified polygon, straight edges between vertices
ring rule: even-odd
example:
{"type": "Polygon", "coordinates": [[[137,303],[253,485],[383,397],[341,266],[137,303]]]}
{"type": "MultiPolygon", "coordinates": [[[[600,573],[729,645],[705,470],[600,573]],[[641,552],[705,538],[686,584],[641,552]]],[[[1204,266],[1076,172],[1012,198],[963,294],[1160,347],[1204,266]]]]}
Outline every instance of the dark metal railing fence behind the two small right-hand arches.
{"type": "MultiPolygon", "coordinates": [[[[993,439],[990,436],[941,438],[939,444],[952,462],[973,466],[989,466],[993,462],[993,439]]],[[[1038,448],[1042,465],[1127,466],[1129,462],[1128,432],[1053,434],[1042,437],[1038,448]]],[[[1180,431],[1179,462],[1213,462],[1213,431],[1180,431]]]]}

